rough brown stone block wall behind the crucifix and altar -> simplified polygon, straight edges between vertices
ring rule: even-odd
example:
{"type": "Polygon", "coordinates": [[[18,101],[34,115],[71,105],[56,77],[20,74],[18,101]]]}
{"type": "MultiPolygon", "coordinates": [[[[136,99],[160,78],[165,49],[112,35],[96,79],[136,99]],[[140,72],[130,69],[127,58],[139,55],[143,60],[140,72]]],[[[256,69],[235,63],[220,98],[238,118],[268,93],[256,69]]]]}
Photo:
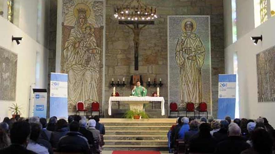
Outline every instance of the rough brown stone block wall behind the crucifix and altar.
{"type": "MultiPolygon", "coordinates": [[[[116,87],[121,96],[130,95],[130,77],[142,75],[145,87],[148,77],[164,85],[160,94],[166,103],[168,100],[168,58],[167,58],[167,16],[168,15],[210,15],[211,22],[211,65],[212,65],[212,107],[213,116],[217,117],[218,74],[224,73],[224,37],[223,37],[223,5],[222,0],[143,0],[148,5],[157,7],[158,19],[155,25],[148,25],[140,34],[139,70],[134,71],[133,32],[124,25],[119,25],[113,17],[113,8],[120,6],[124,0],[106,1],[106,52],[105,52],[105,102],[112,93],[112,78],[122,81],[125,87],[116,87]]],[[[156,91],[155,87],[147,87],[148,93],[156,91]]],[[[113,108],[116,108],[113,103],[113,108]]],[[[120,105],[128,108],[127,105],[120,105]]],[[[168,109],[168,105],[165,106],[168,109]]],[[[210,107],[208,107],[210,109],[210,107]]],[[[107,112],[105,110],[105,115],[107,112]]]]}

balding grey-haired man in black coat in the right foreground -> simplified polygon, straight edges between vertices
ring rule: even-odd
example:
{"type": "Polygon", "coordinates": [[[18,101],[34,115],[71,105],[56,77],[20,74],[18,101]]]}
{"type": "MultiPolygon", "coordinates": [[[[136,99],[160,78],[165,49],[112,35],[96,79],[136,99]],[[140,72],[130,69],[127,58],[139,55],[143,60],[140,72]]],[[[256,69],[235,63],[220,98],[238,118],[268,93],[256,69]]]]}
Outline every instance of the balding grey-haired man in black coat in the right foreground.
{"type": "Polygon", "coordinates": [[[241,128],[237,124],[231,124],[228,128],[228,139],[217,144],[214,154],[239,154],[250,148],[241,137],[241,128]]]}

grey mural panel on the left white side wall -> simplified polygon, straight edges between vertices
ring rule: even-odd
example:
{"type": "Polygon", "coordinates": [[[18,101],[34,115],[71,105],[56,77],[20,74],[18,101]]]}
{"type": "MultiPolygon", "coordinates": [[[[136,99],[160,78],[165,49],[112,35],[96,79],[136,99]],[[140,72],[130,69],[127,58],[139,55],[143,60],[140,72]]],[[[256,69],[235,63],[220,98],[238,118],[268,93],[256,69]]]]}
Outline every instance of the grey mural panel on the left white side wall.
{"type": "Polygon", "coordinates": [[[17,54],[0,47],[0,100],[15,100],[17,54]]]}

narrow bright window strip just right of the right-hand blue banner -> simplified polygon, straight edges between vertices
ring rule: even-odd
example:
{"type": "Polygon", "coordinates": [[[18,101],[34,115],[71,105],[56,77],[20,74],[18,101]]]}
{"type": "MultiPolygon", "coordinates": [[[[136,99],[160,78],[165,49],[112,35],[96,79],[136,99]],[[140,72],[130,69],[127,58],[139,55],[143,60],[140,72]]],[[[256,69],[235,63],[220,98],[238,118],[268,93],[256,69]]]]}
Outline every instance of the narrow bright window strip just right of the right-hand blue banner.
{"type": "Polygon", "coordinates": [[[233,55],[233,73],[236,74],[236,104],[235,104],[235,118],[240,117],[239,112],[239,83],[238,83],[238,55],[237,52],[233,55]]]}

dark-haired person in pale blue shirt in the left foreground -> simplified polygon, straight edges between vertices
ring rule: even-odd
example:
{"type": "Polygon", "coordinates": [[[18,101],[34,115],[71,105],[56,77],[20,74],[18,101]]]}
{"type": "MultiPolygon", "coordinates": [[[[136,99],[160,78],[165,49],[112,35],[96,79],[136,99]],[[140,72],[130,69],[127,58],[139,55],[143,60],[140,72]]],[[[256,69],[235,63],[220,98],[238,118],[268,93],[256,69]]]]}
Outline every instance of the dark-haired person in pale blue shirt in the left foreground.
{"type": "MultiPolygon", "coordinates": [[[[30,121],[31,119],[32,118],[30,118],[30,121]]],[[[31,125],[31,134],[30,134],[30,140],[27,145],[27,149],[33,152],[36,152],[38,154],[49,154],[48,149],[46,147],[41,146],[40,144],[37,143],[37,140],[40,136],[40,131],[41,131],[40,125],[34,122],[32,122],[30,125],[31,125]]]]}

